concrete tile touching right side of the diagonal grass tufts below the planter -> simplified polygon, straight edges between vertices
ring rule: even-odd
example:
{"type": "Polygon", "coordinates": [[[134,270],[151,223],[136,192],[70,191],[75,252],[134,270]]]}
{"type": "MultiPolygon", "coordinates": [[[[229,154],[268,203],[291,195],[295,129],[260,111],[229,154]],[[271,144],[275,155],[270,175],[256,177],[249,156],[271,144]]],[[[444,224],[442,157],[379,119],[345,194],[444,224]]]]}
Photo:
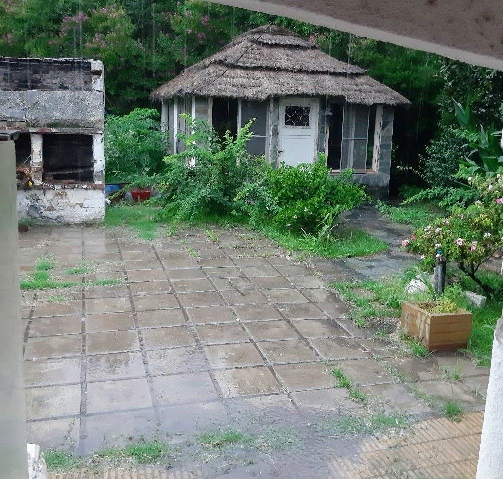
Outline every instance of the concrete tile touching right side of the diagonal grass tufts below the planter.
{"type": "Polygon", "coordinates": [[[431,409],[401,384],[365,386],[359,390],[377,409],[386,413],[426,414],[431,409]]]}

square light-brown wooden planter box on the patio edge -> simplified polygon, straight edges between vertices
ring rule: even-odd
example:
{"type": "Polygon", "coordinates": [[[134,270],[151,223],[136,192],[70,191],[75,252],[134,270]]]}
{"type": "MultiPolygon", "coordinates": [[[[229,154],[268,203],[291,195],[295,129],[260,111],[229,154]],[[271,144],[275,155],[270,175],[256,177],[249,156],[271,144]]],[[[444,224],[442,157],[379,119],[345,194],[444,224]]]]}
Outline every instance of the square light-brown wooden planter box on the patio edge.
{"type": "Polygon", "coordinates": [[[456,313],[430,313],[425,308],[435,303],[402,303],[401,330],[428,348],[428,351],[446,351],[464,348],[472,329],[472,314],[460,310],[456,313]]]}

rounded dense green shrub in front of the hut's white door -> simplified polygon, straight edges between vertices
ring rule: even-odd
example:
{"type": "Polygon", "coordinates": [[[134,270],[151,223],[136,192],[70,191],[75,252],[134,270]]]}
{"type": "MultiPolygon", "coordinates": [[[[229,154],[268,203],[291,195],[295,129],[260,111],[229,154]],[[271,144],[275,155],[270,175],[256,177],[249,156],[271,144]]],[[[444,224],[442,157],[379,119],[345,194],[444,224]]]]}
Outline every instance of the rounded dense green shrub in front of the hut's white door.
{"type": "Polygon", "coordinates": [[[340,213],[368,198],[364,189],[353,182],[352,170],[331,177],[321,154],[314,163],[282,164],[268,172],[267,183],[275,200],[273,220],[295,231],[319,231],[326,227],[327,218],[331,227],[340,213]]]}

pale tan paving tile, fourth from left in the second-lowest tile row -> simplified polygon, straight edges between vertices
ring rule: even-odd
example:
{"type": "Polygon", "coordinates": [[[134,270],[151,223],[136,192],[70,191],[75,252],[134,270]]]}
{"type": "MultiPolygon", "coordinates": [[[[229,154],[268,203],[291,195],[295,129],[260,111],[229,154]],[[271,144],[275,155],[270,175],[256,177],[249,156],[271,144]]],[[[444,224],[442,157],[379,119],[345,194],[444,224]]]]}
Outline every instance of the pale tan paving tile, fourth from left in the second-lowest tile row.
{"type": "Polygon", "coordinates": [[[267,367],[215,371],[224,398],[282,393],[283,388],[267,367]]]}

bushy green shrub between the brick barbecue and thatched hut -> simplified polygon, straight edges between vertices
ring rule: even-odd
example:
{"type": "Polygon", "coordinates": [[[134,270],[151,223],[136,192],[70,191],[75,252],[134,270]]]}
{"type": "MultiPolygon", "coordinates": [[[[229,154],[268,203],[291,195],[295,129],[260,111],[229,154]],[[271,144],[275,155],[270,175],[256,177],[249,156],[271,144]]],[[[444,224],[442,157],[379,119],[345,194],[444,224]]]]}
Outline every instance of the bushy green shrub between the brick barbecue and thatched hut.
{"type": "Polygon", "coordinates": [[[166,149],[157,110],[135,108],[124,116],[107,116],[105,181],[126,182],[133,174],[159,172],[166,149]]]}

